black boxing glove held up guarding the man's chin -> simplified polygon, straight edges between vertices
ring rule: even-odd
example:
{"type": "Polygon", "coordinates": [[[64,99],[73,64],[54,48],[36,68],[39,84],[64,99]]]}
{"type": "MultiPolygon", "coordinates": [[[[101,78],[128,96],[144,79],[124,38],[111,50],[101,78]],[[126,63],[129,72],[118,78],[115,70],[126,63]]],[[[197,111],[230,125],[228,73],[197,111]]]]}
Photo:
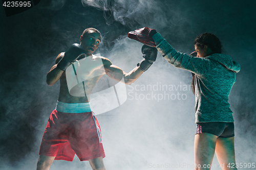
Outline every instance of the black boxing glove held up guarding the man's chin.
{"type": "Polygon", "coordinates": [[[80,44],[72,44],[70,48],[65,52],[64,57],[62,57],[58,64],[57,67],[63,71],[65,71],[68,66],[70,66],[71,63],[73,63],[80,54],[86,53],[82,45],[80,44]]]}

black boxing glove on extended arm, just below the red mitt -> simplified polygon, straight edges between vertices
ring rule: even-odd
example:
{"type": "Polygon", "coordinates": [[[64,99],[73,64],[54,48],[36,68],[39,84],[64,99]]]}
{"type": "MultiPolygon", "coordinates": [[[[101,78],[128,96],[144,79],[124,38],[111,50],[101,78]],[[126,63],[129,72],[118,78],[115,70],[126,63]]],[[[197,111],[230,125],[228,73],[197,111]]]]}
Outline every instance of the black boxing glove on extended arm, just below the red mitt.
{"type": "Polygon", "coordinates": [[[146,71],[157,59],[157,48],[143,45],[141,47],[141,52],[144,54],[144,59],[138,63],[137,66],[140,66],[142,71],[146,71]]]}

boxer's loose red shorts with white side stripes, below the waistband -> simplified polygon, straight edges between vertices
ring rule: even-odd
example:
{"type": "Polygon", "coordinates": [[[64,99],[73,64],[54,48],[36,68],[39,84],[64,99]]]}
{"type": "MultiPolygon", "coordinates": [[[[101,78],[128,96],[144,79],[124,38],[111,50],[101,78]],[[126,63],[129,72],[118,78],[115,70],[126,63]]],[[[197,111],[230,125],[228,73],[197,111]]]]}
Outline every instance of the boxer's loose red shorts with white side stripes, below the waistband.
{"type": "Polygon", "coordinates": [[[80,161],[105,157],[101,131],[94,113],[64,113],[53,110],[48,120],[39,155],[55,160],[80,161]]]}

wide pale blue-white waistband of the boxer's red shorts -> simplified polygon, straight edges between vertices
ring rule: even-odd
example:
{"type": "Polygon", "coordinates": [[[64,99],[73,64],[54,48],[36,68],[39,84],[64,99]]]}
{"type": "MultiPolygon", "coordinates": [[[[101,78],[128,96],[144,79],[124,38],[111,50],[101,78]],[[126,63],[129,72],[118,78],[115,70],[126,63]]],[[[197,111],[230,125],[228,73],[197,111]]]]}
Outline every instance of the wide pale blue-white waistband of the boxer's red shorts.
{"type": "Polygon", "coordinates": [[[91,105],[89,103],[63,103],[57,101],[56,108],[57,111],[63,113],[85,113],[91,112],[91,105]]]}

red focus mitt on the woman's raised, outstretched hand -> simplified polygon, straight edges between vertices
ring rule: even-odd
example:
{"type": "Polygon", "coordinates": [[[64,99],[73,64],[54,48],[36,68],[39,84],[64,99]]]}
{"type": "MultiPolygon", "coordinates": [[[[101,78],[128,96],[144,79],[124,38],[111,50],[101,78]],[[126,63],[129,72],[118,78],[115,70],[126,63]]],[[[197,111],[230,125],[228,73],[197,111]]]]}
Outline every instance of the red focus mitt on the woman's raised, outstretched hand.
{"type": "Polygon", "coordinates": [[[144,27],[144,28],[129,32],[128,37],[131,39],[135,39],[145,45],[156,47],[155,41],[151,38],[155,33],[156,33],[156,30],[153,30],[148,27],[144,27]]]}

